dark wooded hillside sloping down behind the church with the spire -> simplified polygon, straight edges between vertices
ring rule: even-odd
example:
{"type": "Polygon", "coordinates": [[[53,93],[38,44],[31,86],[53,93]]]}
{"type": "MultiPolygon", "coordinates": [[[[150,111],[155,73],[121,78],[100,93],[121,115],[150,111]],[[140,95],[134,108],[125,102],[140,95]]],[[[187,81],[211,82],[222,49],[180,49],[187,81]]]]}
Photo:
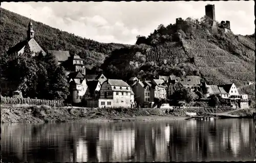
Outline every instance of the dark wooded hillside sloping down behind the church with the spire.
{"type": "MultiPolygon", "coordinates": [[[[118,43],[100,43],[60,31],[41,22],[32,22],[35,31],[34,37],[42,49],[76,53],[86,59],[88,69],[100,66],[105,57],[108,57],[113,50],[130,46],[118,43]]],[[[29,18],[1,8],[1,55],[4,55],[18,42],[26,39],[28,23],[29,18]]]]}

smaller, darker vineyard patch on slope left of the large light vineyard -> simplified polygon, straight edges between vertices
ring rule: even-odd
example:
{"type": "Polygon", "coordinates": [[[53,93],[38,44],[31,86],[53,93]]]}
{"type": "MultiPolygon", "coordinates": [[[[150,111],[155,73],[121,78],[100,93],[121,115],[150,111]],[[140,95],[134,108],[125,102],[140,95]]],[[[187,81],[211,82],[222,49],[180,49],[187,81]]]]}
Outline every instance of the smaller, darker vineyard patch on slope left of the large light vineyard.
{"type": "Polygon", "coordinates": [[[147,61],[155,61],[158,64],[164,63],[164,60],[169,64],[183,63],[187,57],[179,42],[165,42],[146,53],[147,61]]]}

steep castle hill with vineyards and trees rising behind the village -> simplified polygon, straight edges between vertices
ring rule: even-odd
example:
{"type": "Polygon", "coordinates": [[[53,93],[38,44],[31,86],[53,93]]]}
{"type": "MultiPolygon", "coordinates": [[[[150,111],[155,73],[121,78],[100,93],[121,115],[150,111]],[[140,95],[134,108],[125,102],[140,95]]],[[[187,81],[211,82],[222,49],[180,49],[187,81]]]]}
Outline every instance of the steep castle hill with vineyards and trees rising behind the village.
{"type": "MultiPolygon", "coordinates": [[[[207,17],[201,21],[187,18],[180,24],[170,24],[167,27],[160,25],[158,29],[148,37],[138,36],[134,52],[113,56],[107,62],[111,66],[104,65],[107,69],[122,69],[126,74],[128,67],[134,70],[131,62],[122,62],[120,59],[129,58],[140,66],[135,72],[139,74],[143,65],[151,64],[157,72],[155,77],[162,75],[164,69],[181,65],[192,66],[199,72],[207,84],[227,84],[234,82],[237,86],[245,85],[255,80],[255,38],[254,35],[234,35],[232,32],[224,32],[218,24],[218,32],[213,33],[207,17]],[[145,58],[144,63],[136,59],[136,53],[140,52],[145,58]],[[119,60],[119,61],[118,61],[119,60]],[[160,71],[159,71],[160,69],[160,71]]],[[[130,48],[131,49],[131,48],[130,48]]],[[[127,60],[127,59],[125,59],[127,60]]],[[[133,71],[132,70],[132,71],[133,71]]],[[[166,71],[165,71],[166,72],[166,71]]],[[[186,72],[186,71],[185,71],[186,72]]],[[[173,71],[170,71],[173,73],[173,71]]],[[[166,73],[165,73],[166,75],[166,73]]],[[[120,76],[116,74],[115,76],[120,76]]],[[[126,78],[127,79],[127,78],[126,78]]],[[[247,91],[254,95],[255,88],[247,91]]],[[[242,90],[243,91],[243,90],[242,90]]]]}

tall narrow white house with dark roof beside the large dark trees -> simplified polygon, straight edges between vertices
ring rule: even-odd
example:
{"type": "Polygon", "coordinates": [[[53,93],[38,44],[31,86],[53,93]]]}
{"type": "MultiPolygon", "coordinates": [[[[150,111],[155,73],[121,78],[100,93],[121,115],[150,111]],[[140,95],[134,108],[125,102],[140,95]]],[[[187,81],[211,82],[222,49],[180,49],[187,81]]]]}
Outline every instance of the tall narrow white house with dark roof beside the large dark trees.
{"type": "Polygon", "coordinates": [[[72,103],[81,103],[87,91],[87,82],[80,72],[70,73],[68,76],[72,103]]]}

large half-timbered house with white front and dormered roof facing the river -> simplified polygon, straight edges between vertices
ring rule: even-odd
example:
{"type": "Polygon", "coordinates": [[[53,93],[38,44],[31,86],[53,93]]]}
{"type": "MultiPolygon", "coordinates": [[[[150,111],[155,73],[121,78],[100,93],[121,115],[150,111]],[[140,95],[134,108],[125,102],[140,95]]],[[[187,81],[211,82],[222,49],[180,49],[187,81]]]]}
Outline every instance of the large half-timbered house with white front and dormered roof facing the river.
{"type": "Polygon", "coordinates": [[[108,79],[100,88],[99,107],[131,107],[131,87],[123,80],[108,79]]]}

